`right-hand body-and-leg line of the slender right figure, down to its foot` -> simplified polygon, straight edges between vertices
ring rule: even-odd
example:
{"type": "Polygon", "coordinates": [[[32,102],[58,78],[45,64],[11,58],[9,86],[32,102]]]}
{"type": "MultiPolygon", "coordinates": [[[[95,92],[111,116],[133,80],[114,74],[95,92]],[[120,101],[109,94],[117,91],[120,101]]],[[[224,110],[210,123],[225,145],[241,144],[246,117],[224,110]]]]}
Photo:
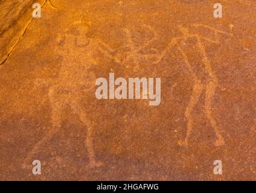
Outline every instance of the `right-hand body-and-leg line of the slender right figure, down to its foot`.
{"type": "Polygon", "coordinates": [[[214,93],[215,93],[218,81],[217,81],[216,75],[214,75],[214,73],[211,69],[211,64],[208,60],[205,48],[202,45],[202,42],[201,42],[200,38],[197,38],[197,42],[198,42],[198,45],[199,45],[200,52],[203,55],[203,63],[205,65],[205,69],[211,77],[211,80],[206,85],[206,90],[205,90],[205,114],[206,114],[207,119],[210,121],[211,126],[213,127],[213,130],[214,130],[214,132],[215,132],[215,134],[218,138],[217,141],[214,142],[214,145],[219,146],[219,145],[225,144],[225,142],[224,142],[224,139],[222,138],[220,130],[217,126],[217,122],[216,122],[216,120],[214,119],[214,117],[211,113],[212,109],[213,109],[213,97],[214,97],[214,93]]]}

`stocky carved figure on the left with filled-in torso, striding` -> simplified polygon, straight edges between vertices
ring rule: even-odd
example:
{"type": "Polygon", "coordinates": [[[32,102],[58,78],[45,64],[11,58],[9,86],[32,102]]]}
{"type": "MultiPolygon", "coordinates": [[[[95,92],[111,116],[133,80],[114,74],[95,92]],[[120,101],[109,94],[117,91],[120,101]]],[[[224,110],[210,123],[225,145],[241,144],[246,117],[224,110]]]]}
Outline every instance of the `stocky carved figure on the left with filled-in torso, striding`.
{"type": "MultiPolygon", "coordinates": [[[[81,28],[79,28],[81,33],[81,28]]],[[[98,52],[104,57],[109,57],[118,60],[113,56],[113,50],[100,39],[91,39],[86,37],[88,28],[83,29],[82,33],[77,34],[66,33],[65,36],[59,36],[60,48],[56,52],[63,55],[63,61],[59,70],[57,80],[53,81],[49,90],[48,98],[51,104],[51,124],[52,127],[47,133],[37,142],[25,159],[24,168],[28,166],[33,156],[43,147],[54,134],[56,134],[62,123],[62,112],[66,107],[70,107],[72,112],[78,116],[83,125],[86,126],[85,144],[89,157],[89,168],[101,166],[103,163],[97,162],[93,148],[93,130],[94,122],[90,119],[90,115],[85,111],[82,104],[81,96],[85,93],[95,92],[95,74],[89,69],[98,63],[93,59],[95,52],[98,52]],[[68,43],[66,43],[68,42],[68,43]],[[73,45],[70,47],[70,45],[73,45]],[[79,50],[80,49],[80,50],[79,50]],[[83,57],[77,57],[78,52],[83,53],[83,57]]],[[[118,61],[117,61],[118,62],[118,61]]],[[[43,81],[45,84],[45,81],[43,81]]],[[[89,105],[89,104],[88,104],[89,105]]]]}

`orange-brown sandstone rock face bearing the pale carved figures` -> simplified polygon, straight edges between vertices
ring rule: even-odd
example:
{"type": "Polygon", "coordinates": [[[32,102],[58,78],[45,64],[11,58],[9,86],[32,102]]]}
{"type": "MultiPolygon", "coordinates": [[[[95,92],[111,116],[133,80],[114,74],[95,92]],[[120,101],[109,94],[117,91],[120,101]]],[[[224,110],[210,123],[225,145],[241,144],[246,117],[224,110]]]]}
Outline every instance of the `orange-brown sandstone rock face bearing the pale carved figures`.
{"type": "Polygon", "coordinates": [[[255,180],[256,2],[214,3],[46,2],[0,66],[0,179],[255,180]],[[97,100],[109,72],[161,104],[97,100]]]}

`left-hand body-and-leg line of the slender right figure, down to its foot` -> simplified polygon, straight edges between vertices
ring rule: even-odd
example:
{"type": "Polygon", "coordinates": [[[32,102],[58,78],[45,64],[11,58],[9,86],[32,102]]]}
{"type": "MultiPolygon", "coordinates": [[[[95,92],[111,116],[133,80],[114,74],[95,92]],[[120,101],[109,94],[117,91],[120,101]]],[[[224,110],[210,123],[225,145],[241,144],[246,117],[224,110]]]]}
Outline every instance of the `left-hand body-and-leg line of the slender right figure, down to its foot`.
{"type": "Polygon", "coordinates": [[[188,62],[188,58],[187,58],[187,55],[185,54],[185,52],[181,49],[180,46],[178,46],[178,49],[182,53],[185,64],[186,64],[188,70],[190,71],[190,73],[193,77],[193,81],[194,81],[193,91],[191,93],[190,101],[188,103],[187,109],[185,111],[185,117],[187,118],[187,121],[188,121],[186,137],[185,137],[184,141],[179,141],[178,142],[179,145],[187,146],[188,145],[188,139],[190,138],[190,134],[191,134],[192,127],[193,127],[193,116],[191,115],[191,112],[193,111],[194,107],[196,106],[197,101],[199,100],[199,97],[202,93],[203,84],[200,83],[199,79],[194,74],[190,63],[188,62]]]}

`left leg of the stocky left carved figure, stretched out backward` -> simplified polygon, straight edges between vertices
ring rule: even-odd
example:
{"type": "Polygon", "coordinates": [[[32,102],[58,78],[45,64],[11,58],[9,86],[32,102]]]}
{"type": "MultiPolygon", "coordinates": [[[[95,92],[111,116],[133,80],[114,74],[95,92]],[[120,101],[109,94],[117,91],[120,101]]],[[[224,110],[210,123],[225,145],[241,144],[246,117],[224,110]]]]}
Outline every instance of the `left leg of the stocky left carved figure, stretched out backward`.
{"type": "MultiPolygon", "coordinates": [[[[50,88],[49,90],[49,100],[51,103],[51,122],[52,122],[52,127],[48,132],[43,136],[42,139],[40,139],[39,142],[37,142],[36,145],[32,148],[30,153],[28,153],[28,156],[25,158],[23,168],[27,168],[28,165],[31,164],[33,160],[33,156],[37,153],[40,147],[46,144],[51,138],[53,138],[53,135],[60,130],[60,124],[61,124],[61,116],[62,116],[62,100],[60,99],[61,97],[57,96],[57,90],[55,87],[50,88]]],[[[34,157],[36,159],[36,157],[34,157]]]]}

